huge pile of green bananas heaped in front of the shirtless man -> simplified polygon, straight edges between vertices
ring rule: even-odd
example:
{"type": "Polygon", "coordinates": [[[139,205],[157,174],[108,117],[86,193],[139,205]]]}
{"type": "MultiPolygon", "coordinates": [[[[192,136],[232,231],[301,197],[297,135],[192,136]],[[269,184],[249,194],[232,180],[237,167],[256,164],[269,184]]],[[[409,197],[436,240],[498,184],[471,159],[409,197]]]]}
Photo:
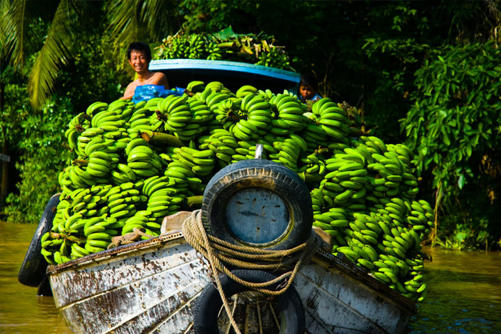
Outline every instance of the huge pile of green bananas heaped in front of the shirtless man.
{"type": "MultiPolygon", "coordinates": [[[[347,109],[329,98],[312,109],[287,91],[192,81],[183,96],[133,104],[95,102],[65,132],[74,159],[59,173],[61,197],[42,237],[50,264],[95,253],[142,229],[156,236],[164,216],[200,202],[221,168],[262,158],[283,164],[311,189],[314,225],[377,280],[422,301],[420,242],[434,209],[417,199],[413,153],[360,136],[347,109]]],[[[147,237],[143,237],[147,239],[147,237]]]]}

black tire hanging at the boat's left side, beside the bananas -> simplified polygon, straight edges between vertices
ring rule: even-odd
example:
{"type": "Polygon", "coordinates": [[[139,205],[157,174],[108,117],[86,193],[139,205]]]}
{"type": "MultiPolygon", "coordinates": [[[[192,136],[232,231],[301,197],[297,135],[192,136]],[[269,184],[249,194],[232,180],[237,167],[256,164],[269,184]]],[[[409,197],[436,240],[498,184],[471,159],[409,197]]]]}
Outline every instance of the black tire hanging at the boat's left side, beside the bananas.
{"type": "Polygon", "coordinates": [[[52,228],[52,221],[54,221],[54,216],[56,216],[56,207],[59,203],[60,193],[52,196],[45,206],[42,218],[38,223],[38,228],[33,234],[33,239],[31,239],[31,244],[29,245],[28,251],[24,256],[24,261],[17,274],[17,280],[22,285],[27,285],[29,287],[38,287],[45,277],[45,271],[47,270],[47,261],[40,250],[42,249],[42,243],[40,238],[45,232],[49,232],[52,228]]]}

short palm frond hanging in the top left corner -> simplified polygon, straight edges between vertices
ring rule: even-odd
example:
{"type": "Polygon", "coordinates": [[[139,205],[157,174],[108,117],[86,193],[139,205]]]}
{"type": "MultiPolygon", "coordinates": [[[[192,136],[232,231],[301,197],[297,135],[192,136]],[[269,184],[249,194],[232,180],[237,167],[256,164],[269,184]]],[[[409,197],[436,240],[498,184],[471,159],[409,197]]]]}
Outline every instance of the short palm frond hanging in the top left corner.
{"type": "Polygon", "coordinates": [[[0,19],[0,33],[2,35],[2,58],[9,59],[14,66],[24,64],[27,35],[26,0],[2,1],[2,16],[0,19]]]}

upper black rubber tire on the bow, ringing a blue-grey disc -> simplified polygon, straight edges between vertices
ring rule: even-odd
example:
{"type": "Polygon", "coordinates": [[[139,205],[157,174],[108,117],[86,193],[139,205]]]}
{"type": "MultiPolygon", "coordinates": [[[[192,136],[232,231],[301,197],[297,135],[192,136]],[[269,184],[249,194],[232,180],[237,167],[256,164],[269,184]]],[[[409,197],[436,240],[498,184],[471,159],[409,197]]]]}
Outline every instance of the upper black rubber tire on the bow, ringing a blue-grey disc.
{"type": "Polygon", "coordinates": [[[262,249],[294,248],[310,237],[313,222],[308,186],[294,170],[269,160],[242,160],[226,166],[207,184],[202,200],[202,222],[209,234],[232,244],[262,249]],[[276,193],[289,210],[287,232],[267,244],[245,244],[230,232],[225,209],[230,199],[245,188],[264,188],[276,193]]]}

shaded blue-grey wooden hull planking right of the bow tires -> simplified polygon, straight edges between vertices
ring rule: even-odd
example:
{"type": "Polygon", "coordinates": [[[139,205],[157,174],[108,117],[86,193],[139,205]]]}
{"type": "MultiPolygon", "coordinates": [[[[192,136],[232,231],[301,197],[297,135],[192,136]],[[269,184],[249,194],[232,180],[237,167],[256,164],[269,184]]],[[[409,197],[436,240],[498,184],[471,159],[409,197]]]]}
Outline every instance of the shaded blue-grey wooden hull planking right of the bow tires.
{"type": "Polygon", "coordinates": [[[315,264],[301,270],[295,287],[311,333],[399,333],[401,318],[410,317],[360,282],[315,264]]]}

